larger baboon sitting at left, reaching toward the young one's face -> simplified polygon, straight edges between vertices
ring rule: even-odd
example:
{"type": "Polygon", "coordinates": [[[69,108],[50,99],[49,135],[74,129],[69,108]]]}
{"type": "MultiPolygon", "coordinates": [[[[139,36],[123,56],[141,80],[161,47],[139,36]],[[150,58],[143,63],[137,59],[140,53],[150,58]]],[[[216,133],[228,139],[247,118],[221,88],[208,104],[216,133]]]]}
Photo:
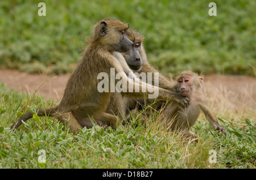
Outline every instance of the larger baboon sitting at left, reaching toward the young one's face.
{"type": "MultiPolygon", "coordinates": [[[[106,113],[112,92],[99,92],[98,75],[104,72],[108,76],[108,82],[111,82],[115,74],[125,73],[120,63],[125,60],[118,53],[127,52],[133,44],[126,36],[127,29],[127,24],[115,19],[103,19],[96,23],[93,35],[88,40],[88,46],[84,50],[83,57],[68,80],[60,104],[55,108],[46,109],[45,112],[43,109],[39,109],[38,115],[56,117],[64,125],[69,124],[70,131],[74,134],[84,126],[93,127],[90,118],[93,118],[97,125],[115,128],[119,118],[113,114],[106,113]],[[117,57],[122,58],[117,59],[117,57]],[[115,70],[114,75],[111,74],[112,68],[115,70]]],[[[129,84],[131,79],[125,76],[122,81],[129,84]]],[[[114,85],[117,83],[117,79],[114,79],[114,85]]],[[[152,87],[144,84],[134,83],[132,88],[132,92],[129,92],[127,87],[127,91],[121,92],[121,94],[142,98],[144,93],[142,93],[141,89],[146,89],[147,98],[152,92],[152,87]],[[139,92],[134,91],[135,86],[139,87],[139,92]]],[[[157,88],[160,99],[175,99],[182,105],[188,104],[189,98],[181,98],[180,93],[158,87],[154,88],[157,88]]],[[[28,118],[31,118],[31,113],[19,118],[12,128],[17,128],[22,121],[26,121],[28,118]]]]}

